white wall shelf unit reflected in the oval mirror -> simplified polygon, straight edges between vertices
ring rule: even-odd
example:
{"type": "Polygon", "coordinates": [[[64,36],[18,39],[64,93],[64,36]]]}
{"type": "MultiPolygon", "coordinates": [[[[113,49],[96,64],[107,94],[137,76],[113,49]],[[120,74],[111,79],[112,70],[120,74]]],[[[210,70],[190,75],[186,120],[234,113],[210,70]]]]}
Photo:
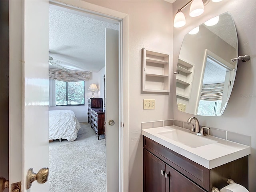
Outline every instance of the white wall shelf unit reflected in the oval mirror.
{"type": "Polygon", "coordinates": [[[182,98],[189,99],[192,87],[194,65],[179,59],[176,74],[176,95],[182,98]]]}

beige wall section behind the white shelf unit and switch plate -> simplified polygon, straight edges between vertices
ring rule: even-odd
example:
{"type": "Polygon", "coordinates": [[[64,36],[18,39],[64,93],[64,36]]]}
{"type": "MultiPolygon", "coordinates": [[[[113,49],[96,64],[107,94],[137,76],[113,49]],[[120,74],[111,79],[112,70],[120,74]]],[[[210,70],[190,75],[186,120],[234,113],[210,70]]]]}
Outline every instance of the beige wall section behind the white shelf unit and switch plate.
{"type": "MultiPolygon", "coordinates": [[[[128,14],[129,20],[129,190],[142,192],[141,122],[173,117],[169,94],[141,92],[142,48],[169,52],[172,66],[172,4],[165,1],[88,1],[128,14]],[[155,110],[143,110],[143,99],[155,99],[155,110]]],[[[171,67],[172,74],[172,67],[171,67]]]]}

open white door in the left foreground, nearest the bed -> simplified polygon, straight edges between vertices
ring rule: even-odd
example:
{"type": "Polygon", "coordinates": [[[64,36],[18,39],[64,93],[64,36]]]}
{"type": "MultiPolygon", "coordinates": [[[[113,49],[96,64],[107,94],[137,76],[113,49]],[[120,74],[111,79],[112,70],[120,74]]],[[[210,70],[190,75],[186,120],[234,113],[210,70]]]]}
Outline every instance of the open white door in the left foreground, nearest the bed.
{"type": "Polygon", "coordinates": [[[38,173],[49,164],[48,28],[48,1],[10,1],[10,98],[17,94],[19,101],[14,100],[15,106],[10,100],[9,181],[10,184],[22,181],[23,192],[48,191],[48,182],[38,184],[34,181],[30,190],[26,190],[25,183],[29,168],[38,173]],[[21,23],[23,30],[15,28],[21,23]],[[20,86],[22,91],[19,92],[20,86]],[[21,111],[15,118],[12,112],[17,110],[21,111]],[[22,139],[14,140],[15,133],[21,133],[22,139]],[[17,143],[22,146],[21,154],[17,151],[17,143]]]}

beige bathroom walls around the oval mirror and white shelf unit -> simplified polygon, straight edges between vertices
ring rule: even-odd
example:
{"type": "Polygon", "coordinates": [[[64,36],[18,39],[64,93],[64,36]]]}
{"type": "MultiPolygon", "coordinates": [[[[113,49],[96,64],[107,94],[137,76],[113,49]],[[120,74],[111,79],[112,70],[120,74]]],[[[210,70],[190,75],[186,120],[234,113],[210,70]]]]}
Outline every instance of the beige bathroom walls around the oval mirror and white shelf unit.
{"type": "MultiPolygon", "coordinates": [[[[142,191],[142,136],[141,122],[175,118],[186,121],[191,115],[179,112],[176,105],[174,76],[171,93],[144,94],[141,92],[141,49],[143,47],[170,52],[174,70],[184,35],[202,22],[218,14],[230,11],[238,32],[239,54],[250,54],[247,63],[238,63],[234,89],[228,106],[222,116],[197,116],[205,126],[220,128],[252,137],[250,164],[250,191],[256,191],[256,1],[237,0],[210,2],[205,12],[197,18],[188,16],[189,7],[184,9],[187,24],[172,28],[172,18],[186,2],[176,0],[174,4],[164,1],[88,1],[129,15],[129,189],[142,191]],[[172,9],[173,6],[173,9],[172,9]],[[173,10],[173,15],[172,15],[173,10]],[[172,34],[173,32],[173,34],[172,34]],[[173,37],[173,41],[172,41],[173,37]],[[172,54],[173,53],[173,54],[172,54]],[[244,97],[245,96],[245,97],[244,97]],[[156,99],[155,110],[143,110],[144,98],[156,99]]],[[[173,70],[171,69],[171,74],[173,70]]]]}

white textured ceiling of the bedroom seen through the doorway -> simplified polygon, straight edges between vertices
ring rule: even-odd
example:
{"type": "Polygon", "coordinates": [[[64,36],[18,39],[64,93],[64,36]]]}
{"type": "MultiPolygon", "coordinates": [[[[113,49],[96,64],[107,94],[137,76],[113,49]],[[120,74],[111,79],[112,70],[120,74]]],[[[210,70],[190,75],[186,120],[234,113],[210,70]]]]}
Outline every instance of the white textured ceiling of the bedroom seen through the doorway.
{"type": "Polygon", "coordinates": [[[65,68],[99,72],[105,66],[105,28],[118,24],[50,8],[49,56],[65,68]]]}

